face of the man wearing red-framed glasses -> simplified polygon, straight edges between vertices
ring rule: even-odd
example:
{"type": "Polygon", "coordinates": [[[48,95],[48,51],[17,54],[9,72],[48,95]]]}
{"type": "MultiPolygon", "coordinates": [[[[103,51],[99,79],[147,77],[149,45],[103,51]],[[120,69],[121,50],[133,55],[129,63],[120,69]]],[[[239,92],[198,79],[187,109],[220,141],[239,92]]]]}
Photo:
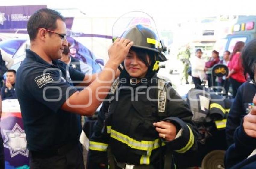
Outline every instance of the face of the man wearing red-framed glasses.
{"type": "MultiPolygon", "coordinates": [[[[66,35],[66,25],[65,22],[57,19],[56,20],[57,28],[53,30],[54,32],[66,35]]],[[[58,34],[47,32],[49,37],[45,40],[46,47],[45,53],[48,54],[52,58],[52,60],[60,59],[62,56],[62,52],[65,46],[68,46],[68,42],[66,39],[62,39],[62,37],[58,34]]]]}

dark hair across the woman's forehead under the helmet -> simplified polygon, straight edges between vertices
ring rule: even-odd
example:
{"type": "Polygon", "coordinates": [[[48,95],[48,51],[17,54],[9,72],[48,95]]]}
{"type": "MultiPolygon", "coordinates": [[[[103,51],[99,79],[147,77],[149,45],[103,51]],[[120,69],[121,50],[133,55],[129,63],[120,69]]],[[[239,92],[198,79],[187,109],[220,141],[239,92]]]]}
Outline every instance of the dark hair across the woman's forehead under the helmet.
{"type": "Polygon", "coordinates": [[[149,56],[149,61],[155,60],[155,52],[147,49],[142,49],[142,48],[136,48],[136,47],[131,47],[131,49],[138,55],[139,59],[147,66],[149,67],[150,64],[147,60],[147,55],[149,56]]]}

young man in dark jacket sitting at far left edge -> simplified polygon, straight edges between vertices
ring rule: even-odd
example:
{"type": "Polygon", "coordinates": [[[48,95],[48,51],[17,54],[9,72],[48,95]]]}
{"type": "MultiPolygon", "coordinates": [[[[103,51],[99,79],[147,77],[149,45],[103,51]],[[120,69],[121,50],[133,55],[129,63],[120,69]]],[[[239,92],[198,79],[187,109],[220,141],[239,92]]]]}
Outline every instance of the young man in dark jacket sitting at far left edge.
{"type": "Polygon", "coordinates": [[[1,88],[2,100],[17,99],[15,92],[16,71],[13,69],[7,70],[5,85],[1,88]]]}

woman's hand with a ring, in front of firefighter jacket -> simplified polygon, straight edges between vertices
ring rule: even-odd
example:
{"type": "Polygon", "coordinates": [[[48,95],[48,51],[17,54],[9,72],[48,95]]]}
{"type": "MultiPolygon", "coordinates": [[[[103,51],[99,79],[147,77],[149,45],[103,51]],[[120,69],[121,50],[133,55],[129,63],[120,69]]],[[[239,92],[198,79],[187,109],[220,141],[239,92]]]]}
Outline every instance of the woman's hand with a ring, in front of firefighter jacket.
{"type": "Polygon", "coordinates": [[[160,121],[153,123],[156,127],[156,131],[159,133],[159,137],[164,138],[166,141],[172,141],[176,137],[177,129],[173,123],[167,121],[160,121]]]}

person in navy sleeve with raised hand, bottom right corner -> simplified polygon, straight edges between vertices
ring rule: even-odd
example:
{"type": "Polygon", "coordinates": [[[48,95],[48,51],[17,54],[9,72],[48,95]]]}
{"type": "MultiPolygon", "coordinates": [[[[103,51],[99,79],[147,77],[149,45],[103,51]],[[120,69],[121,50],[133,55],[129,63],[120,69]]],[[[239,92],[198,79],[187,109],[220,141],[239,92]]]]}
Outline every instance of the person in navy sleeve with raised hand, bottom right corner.
{"type": "MultiPolygon", "coordinates": [[[[255,57],[255,55],[254,55],[255,57]]],[[[254,92],[255,94],[255,92],[254,92]]],[[[256,104],[256,95],[253,98],[256,104]]],[[[234,132],[234,144],[225,154],[225,168],[256,168],[256,106],[246,114],[234,132]]]]}

